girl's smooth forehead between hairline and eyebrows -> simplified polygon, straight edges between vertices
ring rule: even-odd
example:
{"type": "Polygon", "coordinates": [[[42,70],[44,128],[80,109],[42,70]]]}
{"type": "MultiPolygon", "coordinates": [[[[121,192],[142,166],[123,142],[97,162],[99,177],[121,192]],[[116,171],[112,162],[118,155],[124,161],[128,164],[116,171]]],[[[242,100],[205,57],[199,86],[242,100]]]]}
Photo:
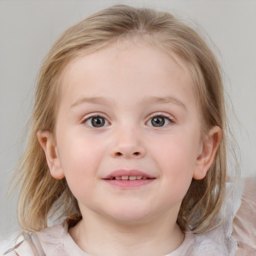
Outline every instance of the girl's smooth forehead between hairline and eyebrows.
{"type": "Polygon", "coordinates": [[[145,42],[113,42],[81,54],[66,66],[61,79],[61,101],[72,104],[81,93],[109,99],[174,93],[187,94],[194,101],[192,83],[188,64],[174,53],[167,55],[145,42]],[[125,89],[132,91],[125,95],[125,89]]]}

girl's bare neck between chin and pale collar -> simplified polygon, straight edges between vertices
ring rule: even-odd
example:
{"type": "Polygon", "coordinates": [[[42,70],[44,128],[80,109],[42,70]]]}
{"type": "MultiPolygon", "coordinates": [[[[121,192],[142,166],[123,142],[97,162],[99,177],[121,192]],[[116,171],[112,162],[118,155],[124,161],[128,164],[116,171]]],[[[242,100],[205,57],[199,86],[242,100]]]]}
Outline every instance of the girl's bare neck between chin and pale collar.
{"type": "Polygon", "coordinates": [[[90,255],[165,255],[175,250],[184,234],[175,221],[158,216],[139,223],[122,223],[91,214],[69,233],[90,255]]]}

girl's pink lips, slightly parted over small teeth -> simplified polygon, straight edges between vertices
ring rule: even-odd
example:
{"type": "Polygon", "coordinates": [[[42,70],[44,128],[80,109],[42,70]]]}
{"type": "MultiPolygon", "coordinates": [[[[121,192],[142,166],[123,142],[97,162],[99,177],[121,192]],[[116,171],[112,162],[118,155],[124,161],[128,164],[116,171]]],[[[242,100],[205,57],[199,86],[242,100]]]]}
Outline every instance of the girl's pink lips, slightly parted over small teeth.
{"type": "Polygon", "coordinates": [[[135,170],[135,169],[130,169],[130,170],[124,170],[124,169],[119,169],[111,172],[109,175],[103,177],[103,180],[107,182],[110,185],[119,187],[119,188],[136,188],[140,187],[142,185],[146,185],[151,183],[153,180],[155,180],[155,177],[140,171],[140,170],[135,170]],[[129,180],[129,179],[110,179],[111,177],[120,177],[120,176],[142,176],[146,177],[146,179],[134,179],[134,180],[129,180]]]}

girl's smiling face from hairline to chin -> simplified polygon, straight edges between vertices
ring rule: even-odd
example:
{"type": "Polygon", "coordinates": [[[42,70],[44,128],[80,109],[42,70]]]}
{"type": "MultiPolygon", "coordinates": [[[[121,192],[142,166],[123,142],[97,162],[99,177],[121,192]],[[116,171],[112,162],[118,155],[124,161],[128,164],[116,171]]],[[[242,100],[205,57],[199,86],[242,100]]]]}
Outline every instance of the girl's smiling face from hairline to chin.
{"type": "Polygon", "coordinates": [[[192,177],[205,175],[192,78],[177,60],[121,43],[66,68],[50,170],[66,177],[83,216],[176,219],[192,177]]]}

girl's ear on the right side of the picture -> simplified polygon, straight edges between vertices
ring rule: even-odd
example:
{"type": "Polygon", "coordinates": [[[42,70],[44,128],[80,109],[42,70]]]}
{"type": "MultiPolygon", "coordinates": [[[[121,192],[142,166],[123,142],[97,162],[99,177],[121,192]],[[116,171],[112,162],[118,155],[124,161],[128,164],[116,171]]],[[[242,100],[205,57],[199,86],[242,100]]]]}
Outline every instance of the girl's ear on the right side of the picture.
{"type": "Polygon", "coordinates": [[[202,179],[205,177],[214,160],[221,137],[222,130],[218,126],[213,126],[206,134],[202,148],[196,158],[196,166],[193,172],[194,179],[202,179]]]}

